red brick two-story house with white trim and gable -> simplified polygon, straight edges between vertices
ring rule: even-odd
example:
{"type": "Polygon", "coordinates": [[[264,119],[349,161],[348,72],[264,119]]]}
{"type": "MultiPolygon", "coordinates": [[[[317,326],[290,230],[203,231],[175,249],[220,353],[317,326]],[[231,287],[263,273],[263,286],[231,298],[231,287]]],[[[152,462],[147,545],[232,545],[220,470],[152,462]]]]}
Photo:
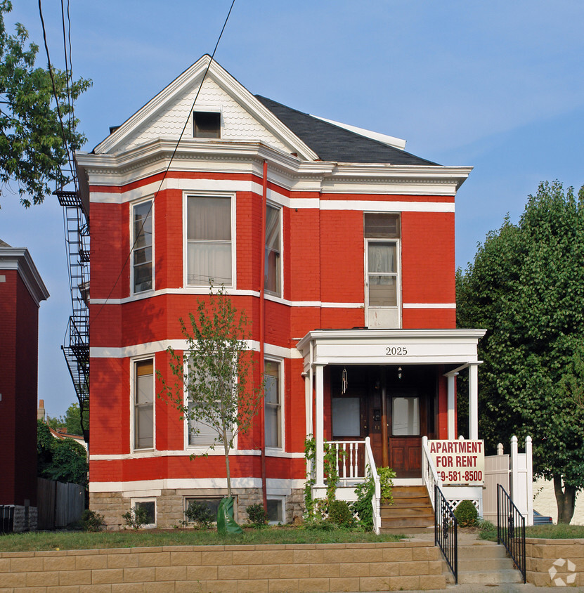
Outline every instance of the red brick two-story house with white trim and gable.
{"type": "Polygon", "coordinates": [[[207,437],[155,396],[209,278],[247,312],[271,377],[265,433],[258,420],[231,459],[240,514],[264,485],[273,519],[301,514],[307,434],[317,488],[331,439],[370,436],[377,464],[419,478],[421,436],[455,437],[466,367],[476,438],[484,332],[455,330],[454,202],[470,167],[253,96],[216,63],[191,113],[207,65],[77,154],[91,221],[90,504],[110,526],[136,502],[170,526],[190,498],[225,493],[221,451],[191,461],[207,437]]]}

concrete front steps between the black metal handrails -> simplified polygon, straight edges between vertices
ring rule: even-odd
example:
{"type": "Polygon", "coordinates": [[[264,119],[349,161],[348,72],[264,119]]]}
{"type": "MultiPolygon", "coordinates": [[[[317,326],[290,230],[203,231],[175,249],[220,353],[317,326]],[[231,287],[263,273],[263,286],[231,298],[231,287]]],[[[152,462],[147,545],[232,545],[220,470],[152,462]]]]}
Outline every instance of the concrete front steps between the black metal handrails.
{"type": "MultiPolygon", "coordinates": [[[[446,561],[444,562],[446,565],[446,561]]],[[[448,566],[443,574],[446,582],[454,577],[448,566]]],[[[480,540],[477,533],[458,533],[458,584],[504,585],[523,582],[521,573],[514,568],[505,546],[480,540]]]]}

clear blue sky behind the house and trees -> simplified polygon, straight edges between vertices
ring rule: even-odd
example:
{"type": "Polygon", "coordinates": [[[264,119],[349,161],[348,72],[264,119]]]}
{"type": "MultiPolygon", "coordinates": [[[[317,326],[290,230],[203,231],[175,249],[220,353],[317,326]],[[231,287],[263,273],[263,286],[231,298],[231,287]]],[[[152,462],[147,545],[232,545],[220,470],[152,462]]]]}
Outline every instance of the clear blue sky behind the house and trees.
{"type": "MultiPolygon", "coordinates": [[[[37,0],[16,21],[46,56],[37,0]]],[[[65,3],[66,4],[66,3],[65,3]]],[[[77,103],[91,150],[212,53],[231,0],[71,2],[77,103]]],[[[51,60],[63,67],[60,1],[43,1],[51,60]]],[[[584,3],[579,0],[235,0],[216,60],[249,91],[313,115],[387,133],[406,150],[474,171],[456,202],[456,258],[543,180],[584,184],[584,3]]],[[[51,293],[39,312],[39,398],[61,415],[74,391],[60,344],[70,315],[63,214],[53,197],[25,211],[4,188],[0,238],[28,247],[51,293]]]]}

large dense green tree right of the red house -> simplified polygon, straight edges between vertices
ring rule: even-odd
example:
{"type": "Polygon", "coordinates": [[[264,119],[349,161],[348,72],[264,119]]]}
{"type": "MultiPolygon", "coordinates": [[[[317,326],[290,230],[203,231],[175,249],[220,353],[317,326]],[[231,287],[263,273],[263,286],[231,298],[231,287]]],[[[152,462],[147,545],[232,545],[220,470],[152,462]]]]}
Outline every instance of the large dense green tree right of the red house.
{"type": "Polygon", "coordinates": [[[553,480],[558,521],[584,488],[584,187],[542,183],[517,225],[488,233],[457,273],[459,327],[479,342],[479,426],[488,447],[533,438],[533,468],[553,480]]]}

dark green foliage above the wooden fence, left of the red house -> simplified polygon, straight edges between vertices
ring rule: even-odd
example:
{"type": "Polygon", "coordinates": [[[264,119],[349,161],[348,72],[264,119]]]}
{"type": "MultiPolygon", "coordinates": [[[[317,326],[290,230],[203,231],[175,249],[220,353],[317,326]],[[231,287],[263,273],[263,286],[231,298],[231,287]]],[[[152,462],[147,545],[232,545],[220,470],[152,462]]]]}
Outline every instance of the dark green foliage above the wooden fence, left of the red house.
{"type": "Polygon", "coordinates": [[[37,473],[41,478],[87,486],[87,452],[72,438],[53,437],[48,426],[37,422],[37,473]]]}

